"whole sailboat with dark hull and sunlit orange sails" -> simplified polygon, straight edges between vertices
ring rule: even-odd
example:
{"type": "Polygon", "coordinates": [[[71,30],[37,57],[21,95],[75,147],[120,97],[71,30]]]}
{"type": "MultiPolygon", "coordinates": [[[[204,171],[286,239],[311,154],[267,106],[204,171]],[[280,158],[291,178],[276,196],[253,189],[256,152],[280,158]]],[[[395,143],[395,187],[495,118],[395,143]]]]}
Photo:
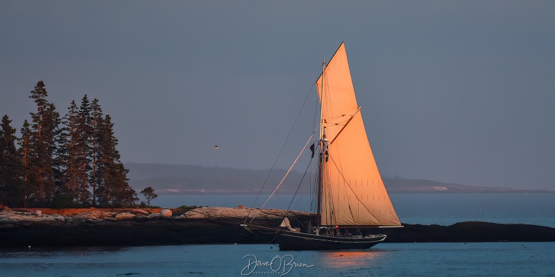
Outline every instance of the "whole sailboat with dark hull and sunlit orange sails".
{"type": "Polygon", "coordinates": [[[305,232],[287,217],[279,228],[241,224],[275,232],[280,250],[368,249],[386,238],[377,230],[402,227],[368,142],[343,42],[322,68],[316,81],[319,136],[311,147],[317,160],[315,222],[305,232]]]}

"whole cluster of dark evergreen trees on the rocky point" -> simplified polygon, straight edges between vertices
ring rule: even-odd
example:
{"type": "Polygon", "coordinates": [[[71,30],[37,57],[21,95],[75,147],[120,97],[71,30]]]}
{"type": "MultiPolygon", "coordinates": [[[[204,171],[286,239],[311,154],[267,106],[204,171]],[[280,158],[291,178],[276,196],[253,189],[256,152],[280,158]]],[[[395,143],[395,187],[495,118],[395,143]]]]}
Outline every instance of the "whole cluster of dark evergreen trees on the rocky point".
{"type": "Polygon", "coordinates": [[[19,207],[126,207],[138,200],[120,159],[114,123],[99,100],[71,101],[60,118],[44,82],[31,96],[37,110],[20,137],[4,115],[0,126],[0,203],[19,207]]]}

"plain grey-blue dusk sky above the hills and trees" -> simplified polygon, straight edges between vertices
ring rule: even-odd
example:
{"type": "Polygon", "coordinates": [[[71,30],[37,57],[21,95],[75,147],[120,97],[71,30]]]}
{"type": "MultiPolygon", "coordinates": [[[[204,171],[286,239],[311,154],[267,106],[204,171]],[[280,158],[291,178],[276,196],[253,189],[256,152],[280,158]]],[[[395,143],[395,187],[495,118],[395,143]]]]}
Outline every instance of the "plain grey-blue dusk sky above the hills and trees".
{"type": "Polygon", "coordinates": [[[123,162],[248,169],[273,166],[300,115],[288,168],[344,41],[382,175],[555,190],[553,15],[554,1],[0,0],[0,114],[20,129],[43,80],[62,115],[99,99],[123,162]]]}

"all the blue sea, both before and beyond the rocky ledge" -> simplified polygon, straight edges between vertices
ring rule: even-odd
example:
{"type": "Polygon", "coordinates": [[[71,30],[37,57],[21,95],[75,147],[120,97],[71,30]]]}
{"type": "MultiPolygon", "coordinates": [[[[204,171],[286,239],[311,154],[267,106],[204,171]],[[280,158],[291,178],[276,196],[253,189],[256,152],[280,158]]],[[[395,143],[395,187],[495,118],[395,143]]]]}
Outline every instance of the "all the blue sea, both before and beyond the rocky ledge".
{"type": "MultiPolygon", "coordinates": [[[[551,194],[391,195],[391,199],[404,223],[479,220],[555,227],[551,194]]],[[[248,200],[252,205],[254,197],[160,196],[153,204],[250,206],[248,200]]],[[[290,201],[291,195],[282,195],[267,205],[287,208],[290,201]]],[[[292,209],[304,210],[295,205],[292,209]]],[[[363,251],[279,251],[273,244],[0,246],[0,276],[555,276],[555,242],[384,242],[363,251]]]]}

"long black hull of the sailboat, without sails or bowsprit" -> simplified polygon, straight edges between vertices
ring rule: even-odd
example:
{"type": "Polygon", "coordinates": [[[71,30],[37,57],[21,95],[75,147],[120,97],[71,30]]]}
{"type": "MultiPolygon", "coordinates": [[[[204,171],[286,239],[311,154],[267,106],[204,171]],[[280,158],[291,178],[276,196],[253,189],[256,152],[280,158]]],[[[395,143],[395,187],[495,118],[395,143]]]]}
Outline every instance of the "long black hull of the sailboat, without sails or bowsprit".
{"type": "Polygon", "coordinates": [[[278,235],[280,251],[368,249],[384,241],[385,238],[386,235],[332,237],[289,231],[278,235]]]}

